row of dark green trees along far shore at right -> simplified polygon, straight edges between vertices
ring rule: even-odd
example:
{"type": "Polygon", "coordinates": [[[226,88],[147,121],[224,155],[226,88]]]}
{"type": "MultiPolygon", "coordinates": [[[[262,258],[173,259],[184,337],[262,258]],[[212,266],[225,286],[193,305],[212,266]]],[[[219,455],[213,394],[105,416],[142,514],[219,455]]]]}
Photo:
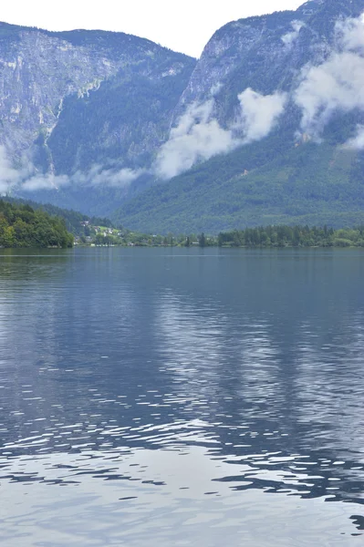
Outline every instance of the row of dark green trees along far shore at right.
{"type": "Polygon", "coordinates": [[[364,226],[340,230],[328,226],[258,226],[220,232],[217,243],[229,247],[364,247],[364,226]]]}

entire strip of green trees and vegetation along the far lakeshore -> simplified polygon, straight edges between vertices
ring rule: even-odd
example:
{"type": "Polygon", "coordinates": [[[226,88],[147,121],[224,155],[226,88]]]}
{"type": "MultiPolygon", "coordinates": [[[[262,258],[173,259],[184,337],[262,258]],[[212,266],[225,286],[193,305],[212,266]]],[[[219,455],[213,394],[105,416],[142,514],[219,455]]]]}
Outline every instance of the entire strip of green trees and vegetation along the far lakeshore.
{"type": "Polygon", "coordinates": [[[218,235],[172,232],[152,235],[131,232],[121,226],[115,227],[108,219],[90,218],[54,206],[0,200],[1,247],[66,248],[74,243],[97,246],[364,247],[364,225],[337,230],[329,226],[269,225],[218,235]]]}

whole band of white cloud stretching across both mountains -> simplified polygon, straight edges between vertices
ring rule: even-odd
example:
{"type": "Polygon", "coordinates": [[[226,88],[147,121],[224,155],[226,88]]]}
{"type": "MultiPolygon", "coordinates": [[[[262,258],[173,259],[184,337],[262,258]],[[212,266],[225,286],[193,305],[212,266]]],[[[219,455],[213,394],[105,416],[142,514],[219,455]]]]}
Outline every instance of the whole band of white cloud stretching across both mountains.
{"type": "MultiPolygon", "coordinates": [[[[280,44],[279,49],[284,50],[287,56],[301,39],[303,29],[308,29],[307,23],[298,19],[289,25],[286,27],[288,32],[280,38],[286,47],[280,44]]],[[[221,115],[224,109],[221,97],[225,97],[224,78],[219,80],[216,77],[210,91],[205,91],[203,98],[192,100],[187,106],[159,149],[157,147],[162,139],[158,134],[157,145],[151,156],[154,160],[148,160],[145,168],[110,169],[100,161],[73,174],[43,174],[28,160],[18,161],[16,167],[6,154],[5,147],[0,147],[0,192],[5,193],[14,188],[24,191],[57,190],[71,185],[124,188],[143,175],[169,180],[213,156],[265,139],[283,118],[287,106],[292,104],[301,113],[301,119],[296,123],[297,132],[301,135],[307,133],[319,141],[328,121],[335,114],[356,109],[364,112],[364,15],[339,19],[334,35],[326,60],[317,64],[316,58],[316,61],[314,59],[305,67],[298,68],[285,92],[279,89],[279,84],[276,84],[277,89],[271,94],[264,94],[259,84],[248,88],[242,86],[240,93],[229,98],[235,100],[234,115],[230,112],[230,118],[221,115]]],[[[166,128],[168,130],[168,125],[166,128]]],[[[131,142],[130,150],[134,145],[135,142],[131,142]]],[[[362,125],[358,126],[357,135],[346,145],[349,148],[364,149],[362,125]]]]}

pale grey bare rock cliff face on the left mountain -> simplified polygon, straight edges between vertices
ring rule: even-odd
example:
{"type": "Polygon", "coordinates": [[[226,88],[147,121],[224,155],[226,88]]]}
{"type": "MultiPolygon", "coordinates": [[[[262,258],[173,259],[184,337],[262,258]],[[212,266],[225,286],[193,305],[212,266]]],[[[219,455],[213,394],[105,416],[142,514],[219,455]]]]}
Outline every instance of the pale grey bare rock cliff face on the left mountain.
{"type": "Polygon", "coordinates": [[[16,155],[57,125],[64,99],[82,96],[115,74],[115,61],[36,30],[20,30],[0,49],[0,142],[16,155]]]}

